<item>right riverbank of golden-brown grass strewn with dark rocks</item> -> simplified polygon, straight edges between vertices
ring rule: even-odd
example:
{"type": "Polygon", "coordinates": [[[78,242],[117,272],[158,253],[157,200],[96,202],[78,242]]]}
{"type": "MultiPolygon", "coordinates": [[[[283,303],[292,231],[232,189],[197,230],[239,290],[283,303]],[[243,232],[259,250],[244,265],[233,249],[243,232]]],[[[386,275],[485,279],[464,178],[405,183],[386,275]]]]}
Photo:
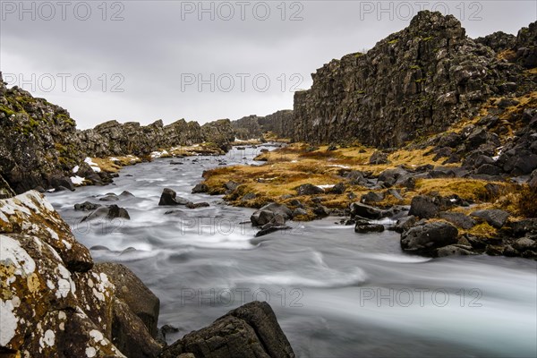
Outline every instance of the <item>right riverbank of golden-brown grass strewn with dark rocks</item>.
{"type": "Polygon", "coordinates": [[[402,239],[417,236],[402,248],[426,255],[535,259],[536,107],[537,92],[493,98],[480,115],[401,149],[292,143],[260,153],[262,166],[204,172],[196,190],[224,194],[234,206],[276,202],[289,210],[286,219],[341,217],[357,233],[383,230],[371,220],[391,217],[398,222],[388,228],[402,239]],[[438,230],[451,234],[439,243],[423,237],[438,230]]]}

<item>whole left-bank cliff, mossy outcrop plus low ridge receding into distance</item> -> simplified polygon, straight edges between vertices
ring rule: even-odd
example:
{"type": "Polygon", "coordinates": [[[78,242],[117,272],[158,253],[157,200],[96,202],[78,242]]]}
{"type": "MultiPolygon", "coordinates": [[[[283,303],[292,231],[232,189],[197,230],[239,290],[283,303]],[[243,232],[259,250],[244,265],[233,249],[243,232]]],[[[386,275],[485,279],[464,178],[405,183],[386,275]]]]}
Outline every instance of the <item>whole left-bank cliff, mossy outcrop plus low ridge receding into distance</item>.
{"type": "Polygon", "coordinates": [[[94,171],[84,159],[143,158],[153,151],[203,142],[227,150],[232,141],[234,129],[227,119],[203,125],[184,119],[164,125],[159,120],[145,126],[109,121],[80,131],[64,108],[16,86],[8,89],[0,72],[0,191],[72,189],[75,167],[76,175],[88,183],[110,183],[110,175],[94,171]]]}

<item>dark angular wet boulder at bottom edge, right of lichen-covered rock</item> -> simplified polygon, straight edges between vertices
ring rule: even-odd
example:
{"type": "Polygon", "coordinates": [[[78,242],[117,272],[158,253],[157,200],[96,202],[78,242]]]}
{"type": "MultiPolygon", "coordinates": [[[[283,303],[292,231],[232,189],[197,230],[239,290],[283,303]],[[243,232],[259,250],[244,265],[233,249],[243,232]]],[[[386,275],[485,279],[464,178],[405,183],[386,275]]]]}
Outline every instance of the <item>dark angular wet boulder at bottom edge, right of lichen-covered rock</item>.
{"type": "Polygon", "coordinates": [[[160,358],[294,357],[293,348],[268,303],[255,301],[228,312],[207,328],[168,346],[160,358]],[[185,354],[185,355],[181,355],[185,354]]]}

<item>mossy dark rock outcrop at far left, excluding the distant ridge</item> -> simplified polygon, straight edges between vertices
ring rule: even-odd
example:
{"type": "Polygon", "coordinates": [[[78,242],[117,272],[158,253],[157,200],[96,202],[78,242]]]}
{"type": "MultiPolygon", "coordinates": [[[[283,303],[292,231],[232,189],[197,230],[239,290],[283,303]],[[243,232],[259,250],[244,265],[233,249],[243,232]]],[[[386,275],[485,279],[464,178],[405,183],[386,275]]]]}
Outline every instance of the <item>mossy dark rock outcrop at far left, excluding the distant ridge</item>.
{"type": "Polygon", "coordinates": [[[0,175],[14,192],[54,187],[84,158],[75,122],[62,107],[7,89],[0,72],[0,175]]]}

